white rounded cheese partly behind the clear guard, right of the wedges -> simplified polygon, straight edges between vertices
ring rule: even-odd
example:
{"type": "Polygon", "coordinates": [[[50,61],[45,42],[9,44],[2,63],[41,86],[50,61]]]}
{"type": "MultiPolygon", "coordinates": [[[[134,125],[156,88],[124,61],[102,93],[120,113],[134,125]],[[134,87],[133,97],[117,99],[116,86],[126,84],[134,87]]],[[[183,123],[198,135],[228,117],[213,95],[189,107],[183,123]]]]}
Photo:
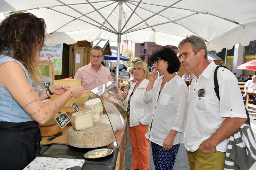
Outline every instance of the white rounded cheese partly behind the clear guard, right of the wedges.
{"type": "Polygon", "coordinates": [[[123,122],[121,118],[114,114],[103,115],[101,122],[108,125],[110,125],[110,122],[111,122],[114,132],[123,128],[123,122]]]}

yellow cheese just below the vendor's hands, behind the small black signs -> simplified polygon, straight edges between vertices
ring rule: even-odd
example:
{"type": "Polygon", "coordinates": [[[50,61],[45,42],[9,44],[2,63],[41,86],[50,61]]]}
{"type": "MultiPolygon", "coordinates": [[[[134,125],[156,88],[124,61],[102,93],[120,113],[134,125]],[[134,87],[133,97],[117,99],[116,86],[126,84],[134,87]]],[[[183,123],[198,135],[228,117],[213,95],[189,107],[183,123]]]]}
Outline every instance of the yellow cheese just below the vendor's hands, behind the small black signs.
{"type": "MultiPolygon", "coordinates": [[[[52,96],[50,96],[51,100],[55,100],[59,97],[60,95],[56,95],[53,94],[52,96]]],[[[95,94],[93,94],[92,92],[88,91],[88,90],[84,90],[84,93],[82,94],[82,96],[75,98],[75,97],[71,97],[70,100],[68,100],[68,102],[64,105],[64,109],[65,108],[71,108],[71,105],[73,102],[77,103],[77,105],[84,105],[84,103],[88,100],[88,97],[91,96],[92,98],[95,97],[95,94]]]]}

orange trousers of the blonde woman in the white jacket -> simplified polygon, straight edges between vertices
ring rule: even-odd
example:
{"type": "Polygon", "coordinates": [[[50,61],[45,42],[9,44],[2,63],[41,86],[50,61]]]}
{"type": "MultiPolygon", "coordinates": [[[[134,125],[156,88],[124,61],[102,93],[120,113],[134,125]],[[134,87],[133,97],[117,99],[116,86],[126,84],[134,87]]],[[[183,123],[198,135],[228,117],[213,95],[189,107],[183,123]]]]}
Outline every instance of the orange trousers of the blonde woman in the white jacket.
{"type": "Polygon", "coordinates": [[[148,126],[130,127],[128,120],[129,137],[132,146],[132,169],[148,170],[149,167],[149,140],[145,137],[148,126]]]}

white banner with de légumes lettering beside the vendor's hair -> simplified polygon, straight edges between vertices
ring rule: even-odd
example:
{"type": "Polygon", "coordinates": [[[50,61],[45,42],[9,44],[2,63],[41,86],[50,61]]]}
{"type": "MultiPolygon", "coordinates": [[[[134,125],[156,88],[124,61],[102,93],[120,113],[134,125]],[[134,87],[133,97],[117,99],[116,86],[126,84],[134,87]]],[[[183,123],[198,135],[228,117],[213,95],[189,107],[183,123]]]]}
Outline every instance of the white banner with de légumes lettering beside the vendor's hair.
{"type": "Polygon", "coordinates": [[[54,63],[54,75],[61,75],[63,44],[43,46],[40,52],[40,61],[54,63]]]}

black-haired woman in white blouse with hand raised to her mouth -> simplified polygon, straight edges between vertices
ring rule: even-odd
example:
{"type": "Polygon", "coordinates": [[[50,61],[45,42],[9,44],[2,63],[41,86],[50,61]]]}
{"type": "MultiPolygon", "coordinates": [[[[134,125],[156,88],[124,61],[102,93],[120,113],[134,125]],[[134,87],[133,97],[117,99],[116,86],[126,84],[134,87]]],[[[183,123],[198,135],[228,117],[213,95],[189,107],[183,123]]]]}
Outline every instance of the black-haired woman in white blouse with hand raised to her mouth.
{"type": "Polygon", "coordinates": [[[156,170],[172,170],[179,145],[184,142],[188,87],[175,72],[180,62],[170,48],[161,48],[151,56],[155,69],[149,73],[145,98],[151,99],[151,120],[146,138],[152,142],[156,170]],[[157,71],[163,75],[158,77],[157,71]],[[157,78],[158,77],[158,78],[157,78]]]}

